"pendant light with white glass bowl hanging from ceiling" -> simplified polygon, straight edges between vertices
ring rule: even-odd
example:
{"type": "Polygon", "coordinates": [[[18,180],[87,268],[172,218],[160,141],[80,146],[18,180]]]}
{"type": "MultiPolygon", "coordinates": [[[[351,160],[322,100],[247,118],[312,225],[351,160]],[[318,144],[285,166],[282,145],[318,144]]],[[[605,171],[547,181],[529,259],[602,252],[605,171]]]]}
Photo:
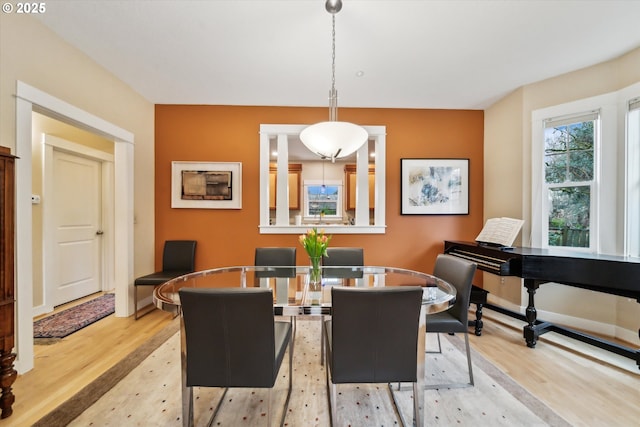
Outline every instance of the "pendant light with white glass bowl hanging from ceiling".
{"type": "Polygon", "coordinates": [[[336,91],[336,13],[342,9],[342,0],[327,0],[327,12],[332,18],[331,91],[329,91],[329,121],[308,126],[300,132],[300,140],[322,159],[335,161],[360,148],[369,138],[364,128],[338,121],[338,92],[336,91]]]}

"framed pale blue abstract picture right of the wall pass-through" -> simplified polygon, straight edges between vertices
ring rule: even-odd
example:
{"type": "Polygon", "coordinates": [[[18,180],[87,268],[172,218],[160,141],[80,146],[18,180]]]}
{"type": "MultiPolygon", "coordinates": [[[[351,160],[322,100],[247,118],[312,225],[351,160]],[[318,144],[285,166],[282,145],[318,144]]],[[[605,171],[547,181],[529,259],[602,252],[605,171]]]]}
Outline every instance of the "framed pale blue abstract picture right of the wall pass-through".
{"type": "Polygon", "coordinates": [[[469,159],[400,159],[402,215],[468,215],[469,159]]]}

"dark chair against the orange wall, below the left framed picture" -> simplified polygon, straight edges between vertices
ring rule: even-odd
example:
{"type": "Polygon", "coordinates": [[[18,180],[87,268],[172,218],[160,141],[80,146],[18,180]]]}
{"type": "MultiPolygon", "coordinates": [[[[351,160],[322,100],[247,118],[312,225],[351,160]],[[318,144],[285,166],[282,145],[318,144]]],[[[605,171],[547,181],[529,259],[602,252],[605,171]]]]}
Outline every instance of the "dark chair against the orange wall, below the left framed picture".
{"type": "Polygon", "coordinates": [[[146,276],[138,277],[133,282],[133,307],[135,318],[149,313],[151,310],[138,316],[138,287],[162,285],[164,282],[183,274],[192,273],[196,268],[196,241],[195,240],[167,240],[162,250],[162,270],[146,276]]]}

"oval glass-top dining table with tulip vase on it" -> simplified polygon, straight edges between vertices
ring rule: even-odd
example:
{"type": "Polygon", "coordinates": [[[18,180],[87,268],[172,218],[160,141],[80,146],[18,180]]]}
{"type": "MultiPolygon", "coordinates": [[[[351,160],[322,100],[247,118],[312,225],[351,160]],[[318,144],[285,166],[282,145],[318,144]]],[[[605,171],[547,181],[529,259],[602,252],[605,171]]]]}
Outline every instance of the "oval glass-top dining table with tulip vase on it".
{"type": "Polygon", "coordinates": [[[456,289],[436,276],[402,268],[380,266],[323,266],[320,268],[319,279],[316,279],[316,275],[309,266],[236,266],[202,270],[177,277],[156,287],[153,292],[153,301],[161,310],[179,314],[178,291],[183,287],[262,287],[273,291],[275,316],[330,316],[333,286],[421,286],[424,292],[418,327],[418,394],[414,401],[416,405],[414,421],[415,425],[423,425],[426,316],[449,309],[455,302],[456,289]]]}

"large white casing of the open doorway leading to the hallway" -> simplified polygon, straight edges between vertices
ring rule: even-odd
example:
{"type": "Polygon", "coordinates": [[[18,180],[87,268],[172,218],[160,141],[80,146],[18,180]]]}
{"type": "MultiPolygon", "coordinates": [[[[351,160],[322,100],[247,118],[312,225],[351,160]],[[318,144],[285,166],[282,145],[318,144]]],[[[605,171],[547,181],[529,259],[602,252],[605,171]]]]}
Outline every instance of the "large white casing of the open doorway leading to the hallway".
{"type": "Polygon", "coordinates": [[[133,313],[133,134],[16,81],[16,353],[18,373],[33,369],[31,113],[36,111],[114,142],[114,283],[116,317],[133,313]]]}

